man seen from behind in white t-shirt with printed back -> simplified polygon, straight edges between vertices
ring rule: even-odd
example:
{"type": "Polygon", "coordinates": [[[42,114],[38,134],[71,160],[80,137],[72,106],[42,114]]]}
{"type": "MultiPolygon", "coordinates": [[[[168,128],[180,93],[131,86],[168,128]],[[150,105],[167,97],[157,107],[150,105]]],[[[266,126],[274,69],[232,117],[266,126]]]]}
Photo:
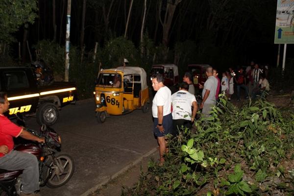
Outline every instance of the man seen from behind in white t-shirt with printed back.
{"type": "Polygon", "coordinates": [[[177,135],[178,130],[181,130],[182,126],[183,128],[191,128],[191,123],[194,122],[198,110],[196,98],[188,90],[189,84],[183,82],[180,90],[172,94],[172,126],[174,135],[177,135]]]}

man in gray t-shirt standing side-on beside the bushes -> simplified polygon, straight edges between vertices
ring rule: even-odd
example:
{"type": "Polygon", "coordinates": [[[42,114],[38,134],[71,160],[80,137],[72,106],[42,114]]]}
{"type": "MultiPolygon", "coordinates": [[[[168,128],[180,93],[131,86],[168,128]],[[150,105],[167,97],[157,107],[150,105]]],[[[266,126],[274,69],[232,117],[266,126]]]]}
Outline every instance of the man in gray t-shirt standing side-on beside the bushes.
{"type": "Polygon", "coordinates": [[[202,114],[206,117],[209,116],[212,107],[216,105],[216,92],[218,87],[218,80],[213,76],[212,67],[206,68],[207,80],[204,83],[202,91],[202,102],[200,104],[200,109],[202,109],[202,114]]]}

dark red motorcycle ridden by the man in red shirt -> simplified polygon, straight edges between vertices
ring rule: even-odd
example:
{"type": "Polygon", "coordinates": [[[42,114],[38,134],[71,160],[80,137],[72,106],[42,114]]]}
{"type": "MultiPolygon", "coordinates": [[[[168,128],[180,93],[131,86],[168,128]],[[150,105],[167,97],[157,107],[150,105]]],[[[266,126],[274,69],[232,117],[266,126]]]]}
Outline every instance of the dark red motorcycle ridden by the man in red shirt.
{"type": "MultiPolygon", "coordinates": [[[[30,133],[44,137],[44,144],[20,144],[14,150],[35,155],[39,161],[40,186],[57,188],[66,184],[74,172],[74,163],[68,154],[59,154],[61,138],[54,129],[42,125],[39,133],[26,129],[30,133]]],[[[0,169],[0,196],[18,196],[22,192],[22,171],[6,171],[0,169]]]]}

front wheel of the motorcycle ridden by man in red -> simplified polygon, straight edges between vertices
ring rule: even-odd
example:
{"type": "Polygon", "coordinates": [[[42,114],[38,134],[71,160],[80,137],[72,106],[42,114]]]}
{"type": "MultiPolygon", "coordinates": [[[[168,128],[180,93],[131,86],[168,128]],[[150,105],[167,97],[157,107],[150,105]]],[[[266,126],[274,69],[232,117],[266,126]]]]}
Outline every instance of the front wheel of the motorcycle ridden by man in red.
{"type": "Polygon", "coordinates": [[[65,185],[73,176],[74,163],[68,154],[58,154],[49,164],[47,175],[50,176],[46,186],[57,188],[65,185]]]}

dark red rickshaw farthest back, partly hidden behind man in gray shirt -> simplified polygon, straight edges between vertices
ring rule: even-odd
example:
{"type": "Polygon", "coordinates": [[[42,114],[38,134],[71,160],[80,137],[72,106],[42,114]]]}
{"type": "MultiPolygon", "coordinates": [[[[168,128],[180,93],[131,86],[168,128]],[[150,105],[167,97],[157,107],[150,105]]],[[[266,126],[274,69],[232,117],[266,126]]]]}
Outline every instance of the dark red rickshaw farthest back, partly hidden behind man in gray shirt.
{"type": "Polygon", "coordinates": [[[208,64],[190,64],[188,70],[193,74],[194,86],[199,89],[199,84],[203,85],[206,81],[206,68],[208,64]]]}

